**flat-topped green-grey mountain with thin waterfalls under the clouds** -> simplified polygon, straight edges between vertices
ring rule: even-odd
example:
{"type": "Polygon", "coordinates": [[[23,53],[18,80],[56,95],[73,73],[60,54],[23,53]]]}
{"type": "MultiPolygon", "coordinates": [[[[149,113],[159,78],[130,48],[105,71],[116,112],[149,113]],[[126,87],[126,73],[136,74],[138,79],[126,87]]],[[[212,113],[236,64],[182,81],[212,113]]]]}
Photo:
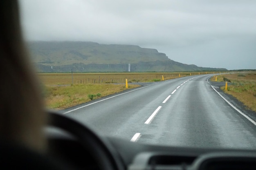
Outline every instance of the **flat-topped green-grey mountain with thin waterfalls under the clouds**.
{"type": "Polygon", "coordinates": [[[28,42],[31,60],[38,72],[131,72],[227,71],[182,64],[156,49],[136,45],[95,42],[28,42]]]}

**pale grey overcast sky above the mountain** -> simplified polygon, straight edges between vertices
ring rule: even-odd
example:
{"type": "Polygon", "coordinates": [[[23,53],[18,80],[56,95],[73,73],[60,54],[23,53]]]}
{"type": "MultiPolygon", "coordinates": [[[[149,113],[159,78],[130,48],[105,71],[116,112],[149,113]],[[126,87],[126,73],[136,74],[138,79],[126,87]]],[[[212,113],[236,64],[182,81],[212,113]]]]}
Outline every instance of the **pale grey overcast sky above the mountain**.
{"type": "Polygon", "coordinates": [[[256,0],[20,0],[27,40],[157,49],[202,67],[256,69],[256,0]]]}

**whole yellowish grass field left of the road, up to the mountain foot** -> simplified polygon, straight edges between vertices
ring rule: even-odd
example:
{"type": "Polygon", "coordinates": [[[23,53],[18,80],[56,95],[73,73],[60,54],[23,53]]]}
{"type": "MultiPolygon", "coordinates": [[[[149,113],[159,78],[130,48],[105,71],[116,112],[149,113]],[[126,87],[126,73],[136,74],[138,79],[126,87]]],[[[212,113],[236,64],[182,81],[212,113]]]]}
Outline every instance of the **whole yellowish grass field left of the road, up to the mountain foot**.
{"type": "MultiPolygon", "coordinates": [[[[213,73],[213,72],[209,72],[213,73]]],[[[47,108],[65,109],[110,94],[136,88],[131,82],[157,82],[196,73],[39,73],[47,108]]]]}

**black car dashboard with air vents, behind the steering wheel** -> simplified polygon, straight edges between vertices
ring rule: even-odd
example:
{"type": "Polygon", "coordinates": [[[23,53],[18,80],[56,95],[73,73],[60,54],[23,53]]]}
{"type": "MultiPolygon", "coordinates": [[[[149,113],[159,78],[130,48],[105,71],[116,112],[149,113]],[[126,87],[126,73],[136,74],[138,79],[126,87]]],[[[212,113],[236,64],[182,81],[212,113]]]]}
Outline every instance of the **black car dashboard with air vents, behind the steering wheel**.
{"type": "MultiPolygon", "coordinates": [[[[58,117],[65,116],[59,115],[58,117]]],[[[70,121],[70,118],[65,117],[65,120],[70,121]]],[[[79,124],[74,120],[72,121],[75,124],[79,124]]],[[[156,146],[114,137],[100,137],[92,130],[89,130],[97,140],[92,141],[91,146],[87,143],[88,140],[90,141],[88,135],[85,135],[86,141],[83,141],[79,136],[68,130],[72,124],[67,124],[65,121],[63,123],[65,126],[62,127],[47,127],[49,141],[47,154],[49,157],[61,161],[76,170],[256,169],[255,150],[156,146]],[[66,129],[63,129],[63,127],[66,129]],[[103,148],[103,152],[97,151],[98,148],[103,148]],[[110,164],[107,165],[106,163],[110,164]]]]}

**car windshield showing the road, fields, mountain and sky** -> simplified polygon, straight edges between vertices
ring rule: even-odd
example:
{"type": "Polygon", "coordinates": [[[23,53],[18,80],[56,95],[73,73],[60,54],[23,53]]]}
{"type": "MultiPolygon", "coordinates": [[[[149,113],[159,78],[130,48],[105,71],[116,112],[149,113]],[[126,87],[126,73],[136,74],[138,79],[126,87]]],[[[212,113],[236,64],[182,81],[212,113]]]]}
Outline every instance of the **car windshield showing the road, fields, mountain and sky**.
{"type": "Polygon", "coordinates": [[[256,148],[256,2],[19,2],[47,108],[131,142],[256,148]]]}

